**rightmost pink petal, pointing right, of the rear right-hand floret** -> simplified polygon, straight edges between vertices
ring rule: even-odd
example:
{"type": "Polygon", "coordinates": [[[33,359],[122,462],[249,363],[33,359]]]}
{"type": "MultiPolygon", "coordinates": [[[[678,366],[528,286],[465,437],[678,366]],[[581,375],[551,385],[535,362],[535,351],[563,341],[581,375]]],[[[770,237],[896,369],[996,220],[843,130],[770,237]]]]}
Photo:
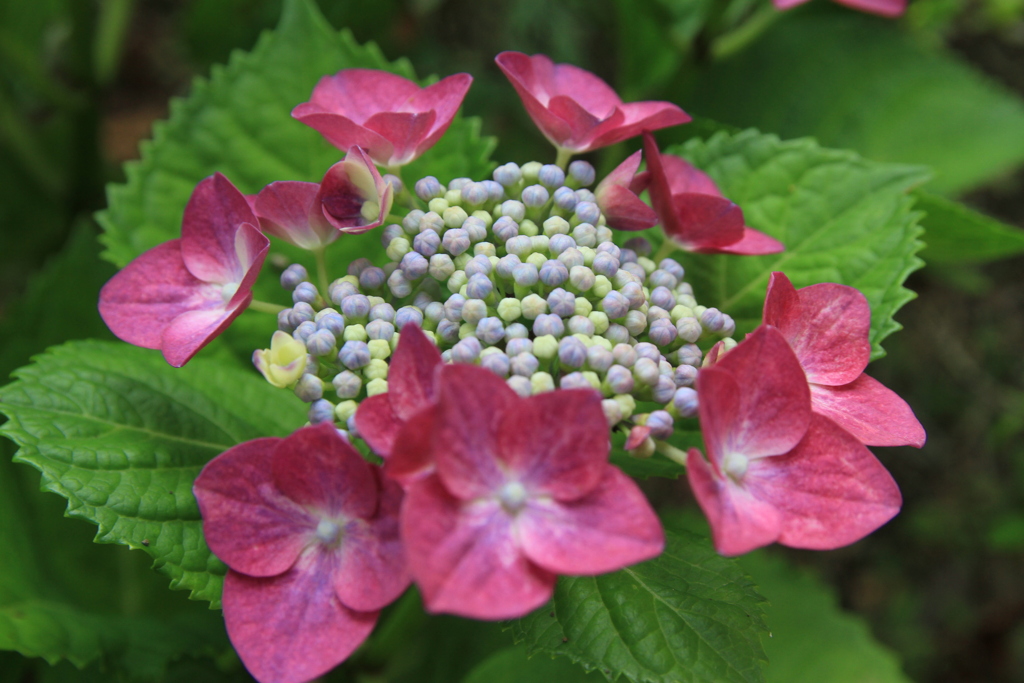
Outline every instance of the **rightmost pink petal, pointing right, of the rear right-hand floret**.
{"type": "Polygon", "coordinates": [[[865,445],[925,445],[925,428],[906,401],[867,375],[843,386],[812,384],[811,410],[865,445]]]}

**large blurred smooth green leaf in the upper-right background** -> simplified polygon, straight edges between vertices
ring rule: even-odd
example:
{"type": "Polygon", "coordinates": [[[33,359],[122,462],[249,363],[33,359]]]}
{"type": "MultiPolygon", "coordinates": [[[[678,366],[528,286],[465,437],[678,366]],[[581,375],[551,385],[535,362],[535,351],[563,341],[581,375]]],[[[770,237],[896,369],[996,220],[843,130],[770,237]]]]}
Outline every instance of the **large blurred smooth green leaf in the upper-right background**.
{"type": "Polygon", "coordinates": [[[1024,162],[1019,96],[921,47],[892,22],[842,9],[786,14],[691,85],[677,99],[691,114],[925,164],[937,191],[979,185],[1024,162]]]}

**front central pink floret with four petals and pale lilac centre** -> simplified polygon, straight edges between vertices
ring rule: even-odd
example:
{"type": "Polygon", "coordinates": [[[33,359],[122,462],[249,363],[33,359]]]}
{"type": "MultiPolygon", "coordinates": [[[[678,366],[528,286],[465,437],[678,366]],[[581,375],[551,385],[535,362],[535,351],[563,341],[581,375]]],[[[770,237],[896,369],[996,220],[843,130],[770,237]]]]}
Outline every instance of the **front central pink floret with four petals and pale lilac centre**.
{"type": "Polygon", "coordinates": [[[430,427],[398,437],[428,450],[435,467],[410,484],[401,510],[428,610],[521,616],[551,597],[555,574],[603,573],[662,552],[657,517],[608,464],[596,391],[521,398],[487,370],[444,366],[430,427]]]}

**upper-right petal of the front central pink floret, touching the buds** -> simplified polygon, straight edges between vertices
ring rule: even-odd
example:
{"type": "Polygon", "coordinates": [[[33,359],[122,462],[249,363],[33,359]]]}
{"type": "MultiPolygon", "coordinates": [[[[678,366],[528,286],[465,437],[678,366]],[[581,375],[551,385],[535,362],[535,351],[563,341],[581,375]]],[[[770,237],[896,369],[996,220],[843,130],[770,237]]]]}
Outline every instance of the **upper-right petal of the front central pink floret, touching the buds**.
{"type": "Polygon", "coordinates": [[[575,500],[597,485],[609,449],[601,394],[591,389],[520,399],[498,427],[498,454],[508,477],[558,501],[575,500]]]}

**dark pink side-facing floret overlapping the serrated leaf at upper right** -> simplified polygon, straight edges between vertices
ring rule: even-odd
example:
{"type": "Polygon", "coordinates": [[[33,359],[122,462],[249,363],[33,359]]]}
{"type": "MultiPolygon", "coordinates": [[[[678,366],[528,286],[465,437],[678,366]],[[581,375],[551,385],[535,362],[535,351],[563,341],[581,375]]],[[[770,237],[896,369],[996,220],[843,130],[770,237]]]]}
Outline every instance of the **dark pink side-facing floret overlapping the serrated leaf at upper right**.
{"type": "Polygon", "coordinates": [[[650,203],[665,233],[681,248],[701,254],[775,254],[785,246],[743,224],[743,212],[722,197],[707,174],[673,155],[663,155],[650,133],[644,133],[650,203]]]}

